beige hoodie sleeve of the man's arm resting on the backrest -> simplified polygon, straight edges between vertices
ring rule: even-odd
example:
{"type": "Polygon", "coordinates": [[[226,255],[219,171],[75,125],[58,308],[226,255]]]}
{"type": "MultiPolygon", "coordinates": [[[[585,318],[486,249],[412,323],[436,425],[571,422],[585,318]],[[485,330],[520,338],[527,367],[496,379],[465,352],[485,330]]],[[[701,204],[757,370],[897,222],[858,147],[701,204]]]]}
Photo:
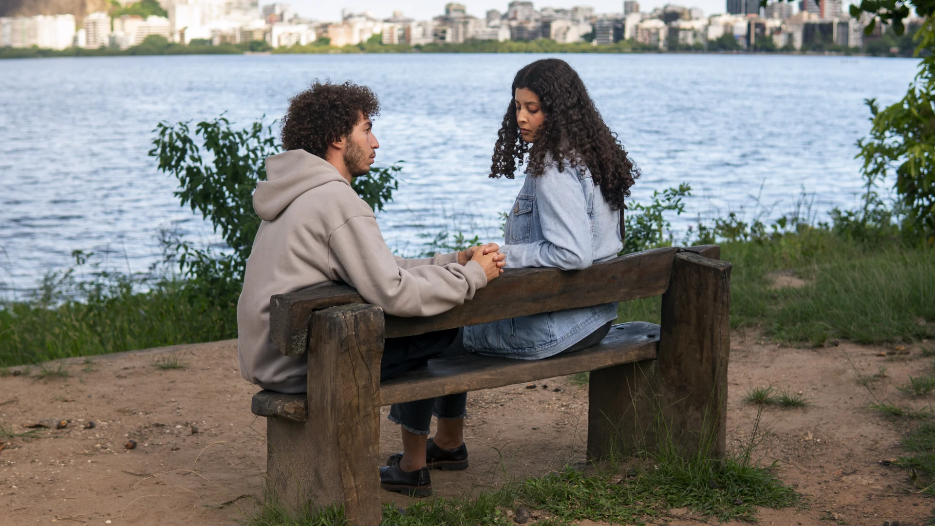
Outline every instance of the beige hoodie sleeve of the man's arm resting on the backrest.
{"type": "Polygon", "coordinates": [[[440,314],[470,300],[487,285],[486,273],[475,261],[464,266],[400,267],[373,217],[352,217],[331,234],[328,247],[332,279],[352,285],[386,314],[440,314]]]}

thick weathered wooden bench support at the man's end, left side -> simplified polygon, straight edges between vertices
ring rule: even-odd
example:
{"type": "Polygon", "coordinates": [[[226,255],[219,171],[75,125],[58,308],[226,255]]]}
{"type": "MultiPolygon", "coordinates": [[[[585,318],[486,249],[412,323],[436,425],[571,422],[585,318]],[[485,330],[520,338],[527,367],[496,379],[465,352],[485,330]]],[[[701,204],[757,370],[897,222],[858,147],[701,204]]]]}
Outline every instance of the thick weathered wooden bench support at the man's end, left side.
{"type": "Polygon", "coordinates": [[[269,484],[295,512],[337,504],[353,526],[381,522],[383,313],[361,303],[312,314],[309,420],[266,422],[269,484]]]}

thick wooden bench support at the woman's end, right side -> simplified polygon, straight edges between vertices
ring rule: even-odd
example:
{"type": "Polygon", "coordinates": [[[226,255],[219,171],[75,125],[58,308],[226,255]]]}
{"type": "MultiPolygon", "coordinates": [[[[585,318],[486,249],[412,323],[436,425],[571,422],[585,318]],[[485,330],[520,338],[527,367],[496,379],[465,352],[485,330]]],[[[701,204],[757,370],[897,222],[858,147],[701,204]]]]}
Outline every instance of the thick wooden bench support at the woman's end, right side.
{"type": "Polygon", "coordinates": [[[662,297],[658,358],[591,372],[588,457],[653,450],[726,452],[730,264],[675,256],[662,297]]]}

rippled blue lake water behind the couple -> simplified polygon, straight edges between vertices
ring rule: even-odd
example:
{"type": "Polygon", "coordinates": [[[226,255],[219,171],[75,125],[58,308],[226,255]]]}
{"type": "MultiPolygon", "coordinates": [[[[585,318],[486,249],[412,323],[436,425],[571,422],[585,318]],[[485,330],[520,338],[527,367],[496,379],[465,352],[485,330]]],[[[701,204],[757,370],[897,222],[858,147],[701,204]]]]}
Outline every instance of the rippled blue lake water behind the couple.
{"type": "MultiPolygon", "coordinates": [[[[391,247],[418,253],[440,228],[499,236],[521,179],[490,180],[496,129],[525,54],[102,57],[0,61],[0,282],[22,293],[71,251],[122,270],[158,260],[160,228],[217,242],[182,209],[147,155],[160,121],[226,111],[246,125],[281,116],[315,78],[381,98],[377,162],[404,160],[379,216],[391,247]]],[[[863,100],[905,93],[912,59],[763,55],[563,55],[655,189],[690,183],[676,225],[743,210],[776,217],[804,189],[819,217],[855,206],[863,100]],[[758,205],[756,205],[758,203],[758,205]]]]}

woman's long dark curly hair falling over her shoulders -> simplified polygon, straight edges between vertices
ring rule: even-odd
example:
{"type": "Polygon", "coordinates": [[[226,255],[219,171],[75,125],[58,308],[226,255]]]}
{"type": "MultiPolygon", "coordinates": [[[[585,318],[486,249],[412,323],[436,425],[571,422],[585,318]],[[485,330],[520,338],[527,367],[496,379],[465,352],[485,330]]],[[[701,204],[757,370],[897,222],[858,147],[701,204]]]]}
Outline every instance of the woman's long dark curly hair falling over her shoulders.
{"type": "Polygon", "coordinates": [[[624,198],[630,195],[633,180],[640,177],[640,169],[626,155],[617,134],[604,124],[578,73],[555,58],[537,60],[516,73],[510,106],[497,133],[490,177],[512,179],[517,163],[523,164],[526,153],[529,154],[526,173],[533,177],[542,175],[549,154],[559,170],[565,161],[572,168],[589,169],[613,210],[624,208],[624,198]],[[524,88],[539,95],[545,115],[532,145],[520,136],[516,123],[513,96],[517,89],[524,88]]]}

